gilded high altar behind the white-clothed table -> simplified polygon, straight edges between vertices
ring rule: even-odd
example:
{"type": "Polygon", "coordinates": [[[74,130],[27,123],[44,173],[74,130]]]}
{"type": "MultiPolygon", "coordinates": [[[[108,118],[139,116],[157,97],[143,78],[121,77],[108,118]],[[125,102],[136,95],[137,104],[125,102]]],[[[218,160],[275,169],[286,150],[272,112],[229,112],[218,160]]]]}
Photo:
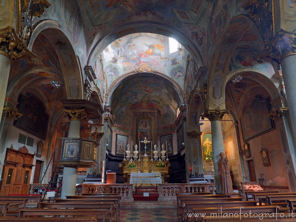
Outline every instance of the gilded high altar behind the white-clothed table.
{"type": "Polygon", "coordinates": [[[149,154],[147,157],[141,157],[140,160],[123,160],[119,166],[120,174],[123,174],[123,177],[126,178],[125,184],[130,183],[131,173],[159,173],[162,183],[165,184],[167,183],[166,178],[170,177],[171,169],[169,160],[151,160],[149,154]],[[134,163],[134,167],[128,166],[131,162],[134,163]],[[156,166],[160,162],[165,166],[156,166]]]}

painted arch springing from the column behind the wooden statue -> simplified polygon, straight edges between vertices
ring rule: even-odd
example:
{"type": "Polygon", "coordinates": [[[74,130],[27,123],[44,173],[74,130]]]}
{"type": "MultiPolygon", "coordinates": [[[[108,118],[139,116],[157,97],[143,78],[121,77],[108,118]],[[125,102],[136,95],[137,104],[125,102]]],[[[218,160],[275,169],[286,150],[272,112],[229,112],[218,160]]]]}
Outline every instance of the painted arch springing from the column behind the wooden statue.
{"type": "Polygon", "coordinates": [[[225,85],[227,83],[226,77],[228,73],[228,66],[231,60],[231,56],[237,47],[237,44],[242,39],[244,34],[248,31],[255,30],[255,36],[260,45],[263,47],[263,41],[255,28],[255,24],[244,15],[234,17],[228,29],[224,32],[220,43],[215,50],[216,53],[211,59],[211,65],[209,69],[208,89],[207,89],[207,108],[215,109],[220,107],[225,109],[225,85]]]}

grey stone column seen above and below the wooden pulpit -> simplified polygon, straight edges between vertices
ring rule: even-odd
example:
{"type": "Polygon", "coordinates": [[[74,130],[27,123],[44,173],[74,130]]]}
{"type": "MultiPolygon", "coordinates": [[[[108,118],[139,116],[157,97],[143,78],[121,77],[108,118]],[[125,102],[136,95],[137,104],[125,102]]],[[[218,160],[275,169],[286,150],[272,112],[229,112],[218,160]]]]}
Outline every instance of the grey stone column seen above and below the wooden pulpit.
{"type": "MultiPolygon", "coordinates": [[[[73,118],[70,120],[70,128],[68,138],[80,137],[80,120],[73,118]]],[[[61,153],[61,155],[63,155],[61,153]]],[[[64,166],[63,185],[61,192],[61,199],[66,199],[66,196],[75,195],[77,180],[77,167],[64,166]]]]}

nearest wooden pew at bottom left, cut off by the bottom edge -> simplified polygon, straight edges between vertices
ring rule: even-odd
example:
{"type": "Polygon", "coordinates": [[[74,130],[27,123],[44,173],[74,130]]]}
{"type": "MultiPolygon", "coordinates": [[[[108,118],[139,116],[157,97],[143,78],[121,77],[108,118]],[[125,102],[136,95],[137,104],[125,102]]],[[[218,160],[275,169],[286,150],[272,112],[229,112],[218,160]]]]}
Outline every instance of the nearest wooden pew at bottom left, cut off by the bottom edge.
{"type": "Polygon", "coordinates": [[[99,222],[96,217],[0,217],[0,222],[99,222]]]}

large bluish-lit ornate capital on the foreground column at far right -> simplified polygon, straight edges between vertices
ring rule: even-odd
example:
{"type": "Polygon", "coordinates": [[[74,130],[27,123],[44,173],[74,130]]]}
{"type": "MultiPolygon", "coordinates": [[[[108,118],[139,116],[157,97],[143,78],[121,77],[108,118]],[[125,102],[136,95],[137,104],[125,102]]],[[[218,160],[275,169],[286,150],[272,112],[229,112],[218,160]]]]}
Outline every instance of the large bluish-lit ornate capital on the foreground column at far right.
{"type": "Polygon", "coordinates": [[[274,38],[265,44],[264,51],[256,55],[256,58],[259,63],[263,62],[264,57],[271,57],[280,63],[282,59],[291,55],[296,55],[296,32],[279,29],[274,38]]]}

